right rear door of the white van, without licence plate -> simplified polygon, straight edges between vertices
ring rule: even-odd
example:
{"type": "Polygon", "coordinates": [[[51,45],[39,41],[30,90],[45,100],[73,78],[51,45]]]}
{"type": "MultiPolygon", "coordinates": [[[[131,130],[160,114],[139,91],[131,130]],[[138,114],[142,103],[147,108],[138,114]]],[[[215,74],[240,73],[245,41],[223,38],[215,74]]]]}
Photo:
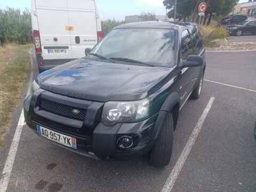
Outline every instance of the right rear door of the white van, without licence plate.
{"type": "Polygon", "coordinates": [[[82,58],[98,39],[95,4],[93,0],[67,0],[67,5],[73,58],[82,58]]]}

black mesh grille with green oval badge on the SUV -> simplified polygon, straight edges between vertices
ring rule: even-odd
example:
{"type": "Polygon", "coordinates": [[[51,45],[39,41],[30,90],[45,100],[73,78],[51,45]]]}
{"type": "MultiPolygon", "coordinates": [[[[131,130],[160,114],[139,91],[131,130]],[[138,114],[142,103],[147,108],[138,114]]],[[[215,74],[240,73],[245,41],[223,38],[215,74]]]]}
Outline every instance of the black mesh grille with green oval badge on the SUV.
{"type": "Polygon", "coordinates": [[[49,101],[47,99],[42,99],[41,108],[54,114],[75,118],[75,119],[81,119],[81,120],[85,119],[86,112],[87,112],[86,109],[63,105],[61,103],[49,101]]]}

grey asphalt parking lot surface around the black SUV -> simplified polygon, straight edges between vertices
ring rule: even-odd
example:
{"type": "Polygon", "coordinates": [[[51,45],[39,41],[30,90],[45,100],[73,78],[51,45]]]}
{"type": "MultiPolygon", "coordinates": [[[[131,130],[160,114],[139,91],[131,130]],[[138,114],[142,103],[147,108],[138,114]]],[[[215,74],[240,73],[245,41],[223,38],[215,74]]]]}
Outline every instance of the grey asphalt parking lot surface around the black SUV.
{"type": "MultiPolygon", "coordinates": [[[[180,111],[169,166],[159,169],[143,158],[95,161],[39,138],[24,125],[6,191],[256,191],[256,51],[206,55],[203,92],[180,111]],[[182,163],[181,154],[211,98],[182,163]]],[[[11,132],[5,140],[1,172],[12,137],[11,132]]]]}

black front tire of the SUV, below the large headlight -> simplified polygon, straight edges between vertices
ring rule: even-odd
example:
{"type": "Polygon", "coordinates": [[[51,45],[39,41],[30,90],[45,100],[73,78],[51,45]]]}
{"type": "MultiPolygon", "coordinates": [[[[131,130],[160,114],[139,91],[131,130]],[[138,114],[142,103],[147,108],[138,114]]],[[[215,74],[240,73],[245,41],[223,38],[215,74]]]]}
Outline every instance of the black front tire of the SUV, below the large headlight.
{"type": "Polygon", "coordinates": [[[169,113],[164,120],[162,129],[150,151],[149,163],[164,167],[169,165],[173,146],[173,119],[169,113]]]}

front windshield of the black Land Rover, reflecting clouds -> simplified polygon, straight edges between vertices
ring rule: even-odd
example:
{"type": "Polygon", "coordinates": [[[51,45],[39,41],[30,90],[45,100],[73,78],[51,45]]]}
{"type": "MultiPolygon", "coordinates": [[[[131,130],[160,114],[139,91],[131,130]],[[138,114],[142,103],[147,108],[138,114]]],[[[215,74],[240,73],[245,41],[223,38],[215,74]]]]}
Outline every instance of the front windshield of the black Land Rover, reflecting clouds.
{"type": "Polygon", "coordinates": [[[177,33],[170,29],[114,29],[91,53],[132,65],[173,66],[176,42],[177,33]]]}

